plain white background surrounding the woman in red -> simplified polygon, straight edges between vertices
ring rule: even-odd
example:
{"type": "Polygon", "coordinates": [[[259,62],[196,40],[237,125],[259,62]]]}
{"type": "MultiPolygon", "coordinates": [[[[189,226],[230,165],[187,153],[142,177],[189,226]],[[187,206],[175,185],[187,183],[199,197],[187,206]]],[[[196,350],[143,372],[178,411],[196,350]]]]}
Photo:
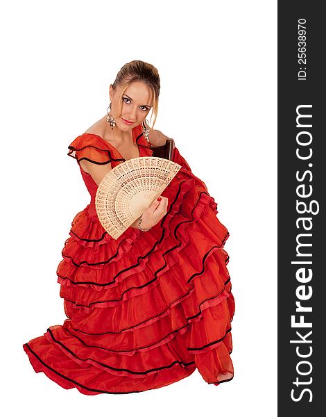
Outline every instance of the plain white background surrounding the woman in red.
{"type": "Polygon", "coordinates": [[[276,1],[11,1],[1,6],[1,377],[6,416],[276,416],[276,1]],[[106,114],[130,60],[160,72],[155,129],[218,203],[236,312],[234,379],[80,394],[22,344],[66,316],[56,268],[89,194],[67,146],[106,114]]]}

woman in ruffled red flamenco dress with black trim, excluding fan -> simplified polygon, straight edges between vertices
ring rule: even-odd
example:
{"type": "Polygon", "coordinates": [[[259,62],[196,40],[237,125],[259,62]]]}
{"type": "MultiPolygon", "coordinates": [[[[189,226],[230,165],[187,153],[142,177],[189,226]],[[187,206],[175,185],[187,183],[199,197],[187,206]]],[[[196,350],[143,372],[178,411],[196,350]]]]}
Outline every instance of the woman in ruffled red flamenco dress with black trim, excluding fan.
{"type": "Polygon", "coordinates": [[[208,384],[233,377],[229,233],[178,148],[178,174],[117,240],[96,215],[105,174],[165,144],[153,129],[159,93],[153,65],[124,65],[110,85],[108,115],[69,145],[91,201],[72,221],[57,269],[67,320],[23,347],[35,372],[86,395],[157,389],[196,368],[208,384]]]}

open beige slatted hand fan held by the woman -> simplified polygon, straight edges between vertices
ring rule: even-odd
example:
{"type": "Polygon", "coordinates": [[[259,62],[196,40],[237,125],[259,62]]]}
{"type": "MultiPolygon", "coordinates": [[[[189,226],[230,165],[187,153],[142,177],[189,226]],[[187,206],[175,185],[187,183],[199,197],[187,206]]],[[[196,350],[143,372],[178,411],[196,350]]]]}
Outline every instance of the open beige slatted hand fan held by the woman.
{"type": "Polygon", "coordinates": [[[112,168],[95,196],[98,220],[117,239],[169,185],[181,165],[165,158],[140,156],[112,168]]]}

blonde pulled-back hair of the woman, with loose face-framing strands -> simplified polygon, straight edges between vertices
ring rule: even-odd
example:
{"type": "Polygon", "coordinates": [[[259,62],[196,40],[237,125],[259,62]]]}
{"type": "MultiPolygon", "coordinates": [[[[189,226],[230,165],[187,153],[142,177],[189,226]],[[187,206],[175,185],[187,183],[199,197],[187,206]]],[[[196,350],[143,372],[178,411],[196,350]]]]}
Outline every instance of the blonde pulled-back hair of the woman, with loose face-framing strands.
{"type": "Polygon", "coordinates": [[[132,60],[130,63],[123,65],[121,70],[118,72],[117,77],[112,84],[112,88],[115,90],[118,85],[123,85],[118,101],[118,103],[121,103],[120,114],[122,111],[122,95],[128,86],[135,81],[141,81],[145,83],[149,88],[151,88],[153,92],[154,99],[150,120],[150,125],[153,129],[157,117],[158,98],[160,95],[160,76],[154,65],[144,63],[144,61],[141,60],[132,60]],[[153,124],[151,124],[152,117],[153,124]]]}

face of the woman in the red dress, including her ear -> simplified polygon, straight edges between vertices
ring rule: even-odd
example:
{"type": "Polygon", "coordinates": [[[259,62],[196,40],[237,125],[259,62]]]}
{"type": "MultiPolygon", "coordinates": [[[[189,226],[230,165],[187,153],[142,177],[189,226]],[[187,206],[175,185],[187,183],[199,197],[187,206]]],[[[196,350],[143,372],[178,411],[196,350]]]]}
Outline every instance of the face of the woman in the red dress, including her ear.
{"type": "Polygon", "coordinates": [[[151,88],[141,81],[135,81],[128,85],[121,97],[121,115],[117,116],[119,115],[119,108],[121,108],[121,103],[118,103],[121,90],[122,86],[120,85],[117,86],[116,90],[113,90],[112,85],[110,85],[110,100],[112,102],[110,114],[114,117],[119,129],[128,131],[146,119],[153,106],[153,93],[151,88]]]}

